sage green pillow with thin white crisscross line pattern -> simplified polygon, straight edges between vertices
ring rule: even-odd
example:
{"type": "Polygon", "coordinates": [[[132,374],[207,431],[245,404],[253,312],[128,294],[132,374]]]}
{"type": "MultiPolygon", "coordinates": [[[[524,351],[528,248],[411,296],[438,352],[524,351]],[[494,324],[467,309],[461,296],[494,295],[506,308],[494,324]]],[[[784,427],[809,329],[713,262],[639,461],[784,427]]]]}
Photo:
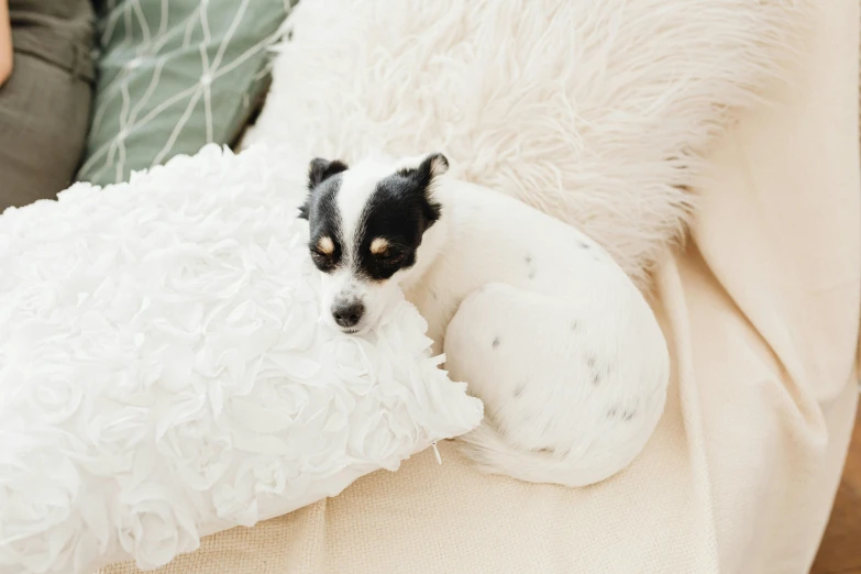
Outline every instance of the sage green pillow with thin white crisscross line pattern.
{"type": "Polygon", "coordinates": [[[268,87],[268,47],[297,0],[108,0],[92,128],[78,179],[232,144],[268,87]]]}

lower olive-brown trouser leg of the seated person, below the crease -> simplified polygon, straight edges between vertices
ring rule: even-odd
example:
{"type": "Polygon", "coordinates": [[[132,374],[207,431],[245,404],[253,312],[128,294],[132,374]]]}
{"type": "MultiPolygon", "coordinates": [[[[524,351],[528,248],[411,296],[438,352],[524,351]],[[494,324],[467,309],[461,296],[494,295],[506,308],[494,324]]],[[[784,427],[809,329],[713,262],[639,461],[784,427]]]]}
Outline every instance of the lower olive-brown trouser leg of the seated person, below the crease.
{"type": "Polygon", "coordinates": [[[69,70],[15,53],[0,86],[0,212],[53,199],[74,180],[92,87],[69,70]]]}

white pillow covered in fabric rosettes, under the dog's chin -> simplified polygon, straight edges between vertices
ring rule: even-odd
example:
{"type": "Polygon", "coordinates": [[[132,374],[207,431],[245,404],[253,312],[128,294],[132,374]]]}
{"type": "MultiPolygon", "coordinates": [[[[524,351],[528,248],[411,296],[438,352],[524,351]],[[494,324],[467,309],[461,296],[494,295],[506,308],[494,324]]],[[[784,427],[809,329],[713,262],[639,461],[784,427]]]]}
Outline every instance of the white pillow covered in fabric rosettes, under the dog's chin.
{"type": "Polygon", "coordinates": [[[318,321],[303,177],[210,146],[0,217],[0,573],[156,567],[478,423],[405,300],[318,321]]]}

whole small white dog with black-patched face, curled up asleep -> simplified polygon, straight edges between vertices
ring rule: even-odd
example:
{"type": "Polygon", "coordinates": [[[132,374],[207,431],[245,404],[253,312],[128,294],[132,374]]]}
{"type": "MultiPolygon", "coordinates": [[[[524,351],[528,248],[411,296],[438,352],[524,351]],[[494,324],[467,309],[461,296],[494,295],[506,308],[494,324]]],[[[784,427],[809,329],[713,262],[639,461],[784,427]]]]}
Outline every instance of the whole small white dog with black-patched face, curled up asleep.
{"type": "Polygon", "coordinates": [[[616,474],[664,407],[654,314],[589,238],[448,168],[441,154],[311,162],[299,217],[323,314],[358,333],[404,289],[452,378],[485,404],[463,437],[483,471],[565,486],[616,474]]]}

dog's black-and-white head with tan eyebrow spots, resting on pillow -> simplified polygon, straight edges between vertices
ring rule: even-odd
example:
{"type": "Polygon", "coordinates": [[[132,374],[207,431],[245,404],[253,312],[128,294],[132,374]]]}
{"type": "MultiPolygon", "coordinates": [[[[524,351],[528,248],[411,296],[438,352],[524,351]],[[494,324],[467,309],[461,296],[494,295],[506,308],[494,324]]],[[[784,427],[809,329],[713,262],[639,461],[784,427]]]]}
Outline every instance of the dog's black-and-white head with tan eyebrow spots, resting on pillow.
{"type": "Polygon", "coordinates": [[[449,162],[431,154],[397,164],[313,159],[299,217],[323,274],[323,317],[347,333],[374,327],[416,266],[424,232],[440,218],[434,179],[449,162]]]}

